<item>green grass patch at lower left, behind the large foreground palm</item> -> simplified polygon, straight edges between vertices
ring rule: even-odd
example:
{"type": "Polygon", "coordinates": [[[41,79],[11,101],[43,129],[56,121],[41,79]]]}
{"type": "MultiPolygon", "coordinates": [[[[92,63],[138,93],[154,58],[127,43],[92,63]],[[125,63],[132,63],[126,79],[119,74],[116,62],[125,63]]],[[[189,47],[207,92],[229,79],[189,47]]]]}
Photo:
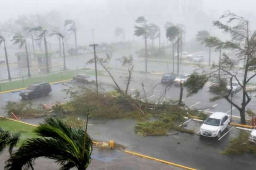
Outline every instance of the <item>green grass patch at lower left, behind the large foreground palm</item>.
{"type": "Polygon", "coordinates": [[[4,130],[10,130],[11,132],[20,132],[21,136],[17,147],[20,147],[21,144],[28,138],[38,137],[38,135],[34,132],[36,127],[20,122],[0,119],[0,127],[2,127],[4,130]]]}

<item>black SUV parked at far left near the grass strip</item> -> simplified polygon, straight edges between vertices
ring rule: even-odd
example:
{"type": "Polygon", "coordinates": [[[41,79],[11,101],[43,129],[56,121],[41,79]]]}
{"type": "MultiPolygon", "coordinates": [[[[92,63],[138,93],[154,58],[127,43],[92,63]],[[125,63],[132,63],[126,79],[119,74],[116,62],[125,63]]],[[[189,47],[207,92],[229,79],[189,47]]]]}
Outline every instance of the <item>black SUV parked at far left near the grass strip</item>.
{"type": "Polygon", "coordinates": [[[32,99],[35,96],[48,95],[52,91],[51,85],[47,82],[36,82],[29,85],[27,89],[20,91],[20,96],[25,99],[32,99]]]}

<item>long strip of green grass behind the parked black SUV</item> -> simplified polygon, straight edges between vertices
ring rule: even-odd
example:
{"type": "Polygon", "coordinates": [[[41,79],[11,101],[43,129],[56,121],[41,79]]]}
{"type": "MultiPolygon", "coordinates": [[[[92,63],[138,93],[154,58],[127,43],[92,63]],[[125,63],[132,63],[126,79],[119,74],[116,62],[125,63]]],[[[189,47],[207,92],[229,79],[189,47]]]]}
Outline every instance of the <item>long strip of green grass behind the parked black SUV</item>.
{"type": "MultiPolygon", "coordinates": [[[[104,76],[102,71],[98,71],[97,73],[98,73],[98,76],[104,76]]],[[[95,75],[95,71],[90,69],[79,69],[79,70],[42,74],[41,76],[36,76],[31,78],[26,77],[26,79],[24,79],[24,83],[22,79],[0,83],[0,91],[9,91],[9,90],[14,90],[18,88],[24,88],[35,82],[58,82],[65,79],[72,79],[72,77],[77,74],[95,75]]]]}

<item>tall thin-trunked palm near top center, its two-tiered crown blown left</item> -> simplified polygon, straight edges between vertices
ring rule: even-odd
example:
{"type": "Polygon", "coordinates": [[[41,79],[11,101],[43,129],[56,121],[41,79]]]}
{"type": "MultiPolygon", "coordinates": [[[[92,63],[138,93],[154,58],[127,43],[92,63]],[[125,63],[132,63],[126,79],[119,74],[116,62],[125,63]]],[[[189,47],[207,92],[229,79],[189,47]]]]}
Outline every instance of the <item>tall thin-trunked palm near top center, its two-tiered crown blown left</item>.
{"type": "Polygon", "coordinates": [[[143,36],[145,39],[145,72],[148,72],[148,67],[147,67],[147,58],[148,58],[148,49],[147,49],[147,38],[149,37],[147,34],[148,26],[146,25],[146,20],[143,16],[138,17],[137,20],[135,20],[136,23],[143,23],[142,27],[139,26],[134,26],[134,35],[137,37],[143,36]]]}

